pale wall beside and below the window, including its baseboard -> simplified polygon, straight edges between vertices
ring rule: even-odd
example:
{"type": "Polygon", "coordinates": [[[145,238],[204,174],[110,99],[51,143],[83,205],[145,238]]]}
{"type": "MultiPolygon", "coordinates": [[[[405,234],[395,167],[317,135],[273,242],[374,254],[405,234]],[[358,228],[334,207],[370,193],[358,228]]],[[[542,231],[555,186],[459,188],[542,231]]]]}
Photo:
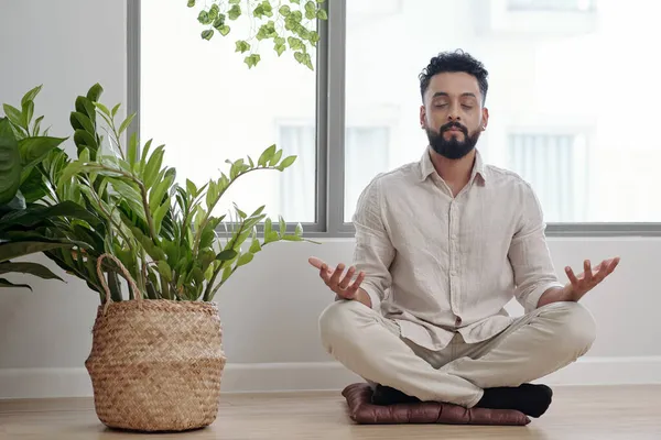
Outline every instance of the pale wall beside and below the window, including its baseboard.
{"type": "MultiPolygon", "coordinates": [[[[68,132],[75,97],[94,82],[106,88],[106,101],[126,102],[124,8],[123,1],[0,0],[0,101],[17,102],[44,84],[37,112],[54,134],[68,132]]],[[[586,257],[622,260],[585,299],[599,324],[593,350],[548,382],[661,382],[661,240],[551,239],[550,245],[561,274],[586,257]]],[[[307,265],[311,254],[347,262],[351,250],[351,240],[277,244],[237,272],[218,296],[229,358],[225,391],[337,389],[356,378],[319,345],[317,316],[333,298],[307,265]]],[[[32,294],[0,289],[0,398],[90,394],[83,365],[98,297],[66,280],[30,278],[32,294]]]]}

